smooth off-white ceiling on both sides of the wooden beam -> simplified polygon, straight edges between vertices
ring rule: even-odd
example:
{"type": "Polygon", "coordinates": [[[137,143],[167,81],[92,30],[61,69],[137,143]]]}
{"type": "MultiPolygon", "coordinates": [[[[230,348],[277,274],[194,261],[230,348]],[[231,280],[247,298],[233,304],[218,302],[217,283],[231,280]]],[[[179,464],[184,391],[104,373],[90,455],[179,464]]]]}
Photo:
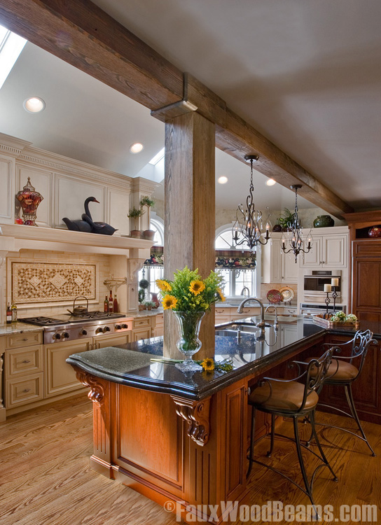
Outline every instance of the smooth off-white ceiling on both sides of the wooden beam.
{"type": "MultiPolygon", "coordinates": [[[[379,0],[95,3],[355,209],[381,207],[379,0]]],[[[164,125],[146,108],[31,43],[0,90],[0,131],[128,176],[164,144],[164,125]],[[43,113],[22,109],[31,95],[46,101],[43,113]],[[145,144],[139,155],[128,151],[134,141],[145,144]]],[[[217,205],[235,208],[249,166],[217,151],[221,175],[229,182],[217,185],[217,205]]],[[[293,207],[293,193],[266,180],[256,174],[257,207],[293,207]]]]}

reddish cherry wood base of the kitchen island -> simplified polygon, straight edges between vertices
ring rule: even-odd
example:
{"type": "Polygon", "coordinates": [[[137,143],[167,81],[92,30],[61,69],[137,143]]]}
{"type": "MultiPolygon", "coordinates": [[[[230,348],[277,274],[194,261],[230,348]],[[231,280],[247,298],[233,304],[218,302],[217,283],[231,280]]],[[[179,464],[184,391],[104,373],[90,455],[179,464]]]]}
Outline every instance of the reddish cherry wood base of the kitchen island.
{"type": "MultiPolygon", "coordinates": [[[[285,377],[287,360],[306,350],[316,353],[325,333],[318,330],[272,363],[227,381],[225,387],[202,399],[95,377],[69,360],[78,380],[90,387],[89,398],[94,402],[92,468],[160,505],[172,502],[174,512],[181,509],[184,521],[188,515],[193,518],[189,522],[221,523],[229,512],[227,507],[225,515],[221,514],[221,502],[233,505],[248,491],[250,386],[270,369],[274,377],[285,377]],[[218,505],[218,519],[208,516],[207,505],[218,505]]],[[[265,414],[258,416],[257,424],[258,437],[267,433],[265,414]]]]}

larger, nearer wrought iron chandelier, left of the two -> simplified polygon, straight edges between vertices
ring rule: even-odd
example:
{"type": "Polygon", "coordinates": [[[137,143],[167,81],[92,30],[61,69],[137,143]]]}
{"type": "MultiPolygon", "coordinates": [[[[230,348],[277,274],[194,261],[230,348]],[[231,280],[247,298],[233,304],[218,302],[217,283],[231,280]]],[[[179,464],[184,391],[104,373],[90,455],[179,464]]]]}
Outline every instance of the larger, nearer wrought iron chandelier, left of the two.
{"type": "Polygon", "coordinates": [[[246,209],[243,204],[238,206],[235,214],[235,223],[233,225],[233,243],[235,246],[247,244],[251,251],[258,244],[267,244],[270,239],[270,221],[266,221],[265,235],[263,236],[262,212],[255,209],[254,206],[254,185],[253,185],[253,162],[258,160],[258,155],[245,155],[244,160],[250,162],[250,186],[249,195],[246,199],[246,209]]]}

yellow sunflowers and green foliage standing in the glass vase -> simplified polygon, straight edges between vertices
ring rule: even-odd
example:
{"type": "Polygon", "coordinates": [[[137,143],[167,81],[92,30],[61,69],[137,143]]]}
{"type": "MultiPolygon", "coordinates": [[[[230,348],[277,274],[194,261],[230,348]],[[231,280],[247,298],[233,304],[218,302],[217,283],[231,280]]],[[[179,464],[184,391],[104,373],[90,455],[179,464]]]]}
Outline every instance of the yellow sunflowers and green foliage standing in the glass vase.
{"type": "Polygon", "coordinates": [[[207,311],[214,302],[225,300],[221,292],[223,278],[219,272],[212,271],[202,279],[198,269],[191,270],[186,266],[177,270],[173,281],[158,279],[156,284],[165,310],[207,311]]]}

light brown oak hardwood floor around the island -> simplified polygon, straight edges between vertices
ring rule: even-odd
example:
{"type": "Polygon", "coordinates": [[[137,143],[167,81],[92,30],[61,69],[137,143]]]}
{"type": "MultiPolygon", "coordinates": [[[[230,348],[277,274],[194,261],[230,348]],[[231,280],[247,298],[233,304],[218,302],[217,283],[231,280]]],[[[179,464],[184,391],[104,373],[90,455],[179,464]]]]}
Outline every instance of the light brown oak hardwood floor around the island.
{"type": "MultiPolygon", "coordinates": [[[[319,414],[341,425],[345,418],[319,414]]],[[[281,431],[292,431],[285,422],[281,431]]],[[[308,428],[300,424],[301,431],[308,428]]],[[[319,470],[314,482],[317,504],[378,507],[381,521],[380,426],[363,423],[377,457],[366,444],[338,430],[319,427],[324,451],[339,482],[331,481],[328,469],[319,470]]],[[[265,458],[268,440],[256,446],[256,457],[285,468],[300,481],[293,443],[278,438],[270,460],[265,458]]],[[[89,467],[92,454],[92,402],[85,395],[62,400],[39,409],[16,414],[0,424],[0,524],[1,525],[172,525],[178,523],[160,505],[89,467]]],[[[307,451],[307,470],[316,461],[307,451]],[[308,456],[307,456],[308,454],[308,456]]],[[[295,486],[274,472],[254,465],[247,505],[279,500],[285,505],[307,505],[309,500],[295,486]]],[[[337,514],[338,515],[338,514],[337,514]]],[[[336,516],[336,514],[335,514],[336,516]]],[[[239,514],[238,514],[239,517],[239,514]]],[[[237,519],[236,525],[252,523],[237,519]]],[[[263,521],[256,521],[263,523],[263,521]]],[[[340,522],[340,521],[339,521],[340,522]]],[[[354,521],[347,521],[352,523],[354,521]]]]}

